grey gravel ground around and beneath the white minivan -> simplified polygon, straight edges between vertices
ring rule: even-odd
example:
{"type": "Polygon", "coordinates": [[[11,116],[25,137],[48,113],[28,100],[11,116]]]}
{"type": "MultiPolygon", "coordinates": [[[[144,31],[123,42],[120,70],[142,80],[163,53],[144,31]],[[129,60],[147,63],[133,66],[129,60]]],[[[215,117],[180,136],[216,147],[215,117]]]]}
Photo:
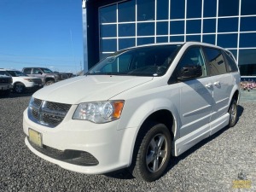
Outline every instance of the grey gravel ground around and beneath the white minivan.
{"type": "Polygon", "coordinates": [[[256,103],[241,102],[239,121],[173,158],[153,183],[127,172],[85,175],[38,158],[26,148],[22,113],[29,94],[0,98],[0,191],[256,191],[256,103]],[[249,189],[235,189],[246,179],[249,189]]]}

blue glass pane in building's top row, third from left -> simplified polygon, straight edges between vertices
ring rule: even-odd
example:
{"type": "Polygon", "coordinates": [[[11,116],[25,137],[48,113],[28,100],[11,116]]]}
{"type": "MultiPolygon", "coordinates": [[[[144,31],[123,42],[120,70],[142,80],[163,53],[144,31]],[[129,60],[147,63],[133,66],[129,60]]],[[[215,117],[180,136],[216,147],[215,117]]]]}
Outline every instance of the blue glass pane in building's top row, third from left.
{"type": "Polygon", "coordinates": [[[137,0],[137,20],[154,20],[154,0],[137,0]]]}

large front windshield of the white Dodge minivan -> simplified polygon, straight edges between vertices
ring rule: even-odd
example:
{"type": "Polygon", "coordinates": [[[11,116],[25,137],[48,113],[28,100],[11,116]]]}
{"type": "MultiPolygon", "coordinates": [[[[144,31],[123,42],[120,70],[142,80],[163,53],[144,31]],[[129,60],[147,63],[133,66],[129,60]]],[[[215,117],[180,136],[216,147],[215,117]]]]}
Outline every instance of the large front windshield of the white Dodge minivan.
{"type": "Polygon", "coordinates": [[[100,61],[87,74],[161,76],[180,47],[168,44],[121,50],[100,61]]]}

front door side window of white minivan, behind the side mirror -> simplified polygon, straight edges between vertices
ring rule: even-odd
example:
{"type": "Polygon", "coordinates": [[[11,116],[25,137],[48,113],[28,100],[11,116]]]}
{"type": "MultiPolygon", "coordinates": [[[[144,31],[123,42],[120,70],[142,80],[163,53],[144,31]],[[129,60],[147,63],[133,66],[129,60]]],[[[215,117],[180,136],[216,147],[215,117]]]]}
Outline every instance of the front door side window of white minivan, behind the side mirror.
{"type": "Polygon", "coordinates": [[[177,64],[177,71],[179,72],[183,67],[192,67],[200,66],[201,67],[201,78],[207,76],[206,62],[202,55],[201,47],[192,47],[189,48],[182,59],[177,64]]]}

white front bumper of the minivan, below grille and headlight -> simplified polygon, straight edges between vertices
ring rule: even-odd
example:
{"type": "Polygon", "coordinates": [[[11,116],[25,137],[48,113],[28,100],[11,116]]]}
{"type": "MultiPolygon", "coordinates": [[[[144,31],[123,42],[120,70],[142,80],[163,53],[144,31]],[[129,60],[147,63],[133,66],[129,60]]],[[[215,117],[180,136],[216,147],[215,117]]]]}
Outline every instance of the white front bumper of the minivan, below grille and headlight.
{"type": "MultiPolygon", "coordinates": [[[[70,111],[73,111],[72,109],[70,111]]],[[[23,130],[26,136],[28,136],[28,129],[38,131],[42,134],[44,147],[52,148],[57,152],[57,156],[44,153],[45,150],[32,146],[26,137],[25,143],[28,148],[44,160],[49,160],[73,172],[102,174],[131,164],[136,127],[118,130],[119,120],[107,124],[94,124],[89,121],[74,120],[72,114],[67,113],[60,125],[49,128],[28,119],[26,109],[23,116],[23,130]],[[65,157],[65,151],[73,151],[74,154],[71,157],[70,155],[65,157]],[[95,158],[93,163],[83,159],[84,153],[90,154],[90,158],[95,158]],[[82,159],[81,154],[83,154],[82,159]],[[80,158],[79,163],[75,160],[76,158],[80,158]]],[[[85,155],[85,159],[89,156],[85,155]]]]}

